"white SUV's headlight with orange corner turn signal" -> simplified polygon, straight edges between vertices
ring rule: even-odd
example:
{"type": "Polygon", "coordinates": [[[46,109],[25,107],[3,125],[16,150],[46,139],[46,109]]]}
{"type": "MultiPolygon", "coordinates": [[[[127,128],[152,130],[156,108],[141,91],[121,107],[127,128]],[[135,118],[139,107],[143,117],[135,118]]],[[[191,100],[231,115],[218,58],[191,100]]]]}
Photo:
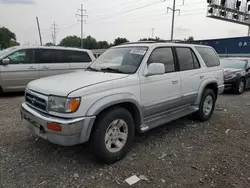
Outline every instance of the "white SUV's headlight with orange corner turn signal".
{"type": "Polygon", "coordinates": [[[49,96],[48,110],[59,113],[72,113],[77,111],[81,98],[65,98],[49,96]]]}

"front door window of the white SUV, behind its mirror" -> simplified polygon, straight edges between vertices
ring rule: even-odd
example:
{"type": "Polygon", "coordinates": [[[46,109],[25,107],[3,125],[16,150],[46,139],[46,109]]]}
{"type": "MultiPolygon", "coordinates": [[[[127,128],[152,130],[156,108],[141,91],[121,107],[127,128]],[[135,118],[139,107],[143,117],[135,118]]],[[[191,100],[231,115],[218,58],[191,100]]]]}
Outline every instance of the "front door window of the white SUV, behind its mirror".
{"type": "Polygon", "coordinates": [[[148,60],[148,65],[151,63],[163,63],[165,73],[174,72],[175,64],[172,48],[156,48],[148,60]]]}

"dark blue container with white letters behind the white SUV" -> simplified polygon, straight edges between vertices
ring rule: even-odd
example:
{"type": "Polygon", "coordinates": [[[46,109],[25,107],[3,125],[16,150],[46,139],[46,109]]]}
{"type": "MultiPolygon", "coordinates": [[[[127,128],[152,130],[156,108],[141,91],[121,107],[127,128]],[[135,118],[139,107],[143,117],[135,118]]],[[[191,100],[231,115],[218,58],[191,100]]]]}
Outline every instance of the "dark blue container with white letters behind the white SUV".
{"type": "Polygon", "coordinates": [[[190,43],[212,46],[221,57],[250,57],[250,37],[196,40],[190,43]]]}

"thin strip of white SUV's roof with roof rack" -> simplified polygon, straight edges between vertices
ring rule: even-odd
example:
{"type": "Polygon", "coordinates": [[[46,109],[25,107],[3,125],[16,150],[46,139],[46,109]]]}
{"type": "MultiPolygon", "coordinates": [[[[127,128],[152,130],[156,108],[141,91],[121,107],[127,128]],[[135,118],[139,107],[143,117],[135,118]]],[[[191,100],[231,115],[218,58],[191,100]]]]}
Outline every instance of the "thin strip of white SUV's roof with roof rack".
{"type": "Polygon", "coordinates": [[[171,43],[171,42],[154,42],[154,41],[139,41],[139,42],[132,42],[132,43],[124,43],[118,46],[114,46],[112,48],[121,48],[121,47],[133,47],[133,46],[141,46],[141,47],[161,47],[161,46],[182,46],[182,47],[206,47],[212,48],[210,46],[199,45],[199,44],[186,44],[186,43],[171,43]]]}

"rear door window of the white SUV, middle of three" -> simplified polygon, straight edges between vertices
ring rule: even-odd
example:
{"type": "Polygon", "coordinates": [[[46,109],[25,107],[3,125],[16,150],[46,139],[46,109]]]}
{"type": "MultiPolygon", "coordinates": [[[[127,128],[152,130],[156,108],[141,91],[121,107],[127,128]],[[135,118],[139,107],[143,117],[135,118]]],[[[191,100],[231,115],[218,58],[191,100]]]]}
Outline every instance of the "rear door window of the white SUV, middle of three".
{"type": "Polygon", "coordinates": [[[176,48],[180,71],[200,68],[199,62],[190,48],[176,48]]]}

